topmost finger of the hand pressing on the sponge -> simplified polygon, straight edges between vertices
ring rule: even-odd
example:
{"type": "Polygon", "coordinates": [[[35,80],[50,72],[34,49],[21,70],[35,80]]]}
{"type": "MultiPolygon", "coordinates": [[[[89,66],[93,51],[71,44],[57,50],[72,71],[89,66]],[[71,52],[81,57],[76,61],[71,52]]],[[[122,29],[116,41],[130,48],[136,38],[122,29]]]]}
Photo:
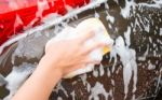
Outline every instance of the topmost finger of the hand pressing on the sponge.
{"type": "Polygon", "coordinates": [[[91,30],[89,30],[87,32],[83,33],[80,37],[80,43],[84,43],[85,41],[87,41],[89,39],[93,38],[95,35],[95,33],[91,30]]]}

